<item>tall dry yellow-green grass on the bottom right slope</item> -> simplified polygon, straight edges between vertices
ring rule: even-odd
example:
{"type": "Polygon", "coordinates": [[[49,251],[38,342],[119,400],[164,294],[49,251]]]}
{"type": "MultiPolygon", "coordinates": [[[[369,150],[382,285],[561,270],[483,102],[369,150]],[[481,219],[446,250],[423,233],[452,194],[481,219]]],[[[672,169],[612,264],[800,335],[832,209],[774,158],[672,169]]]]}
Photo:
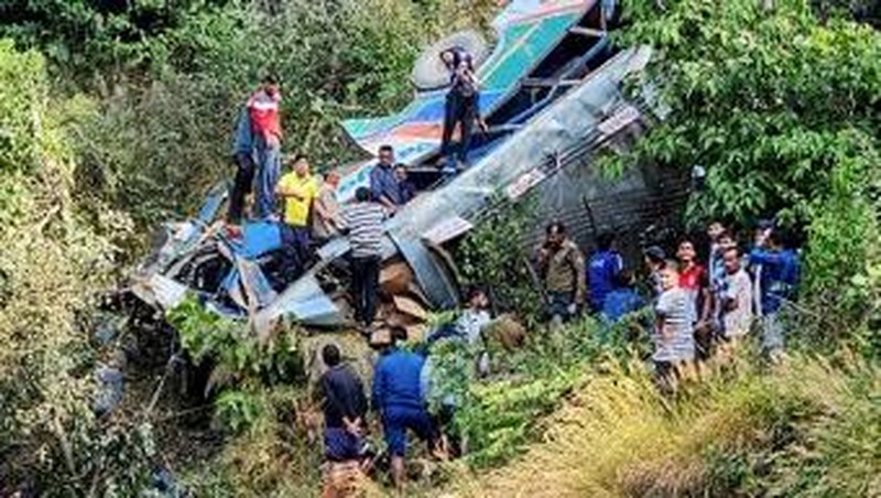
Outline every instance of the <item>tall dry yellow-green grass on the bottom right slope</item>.
{"type": "Polygon", "coordinates": [[[881,374],[795,357],[742,360],[656,393],[641,368],[610,367],[509,466],[460,472],[452,494],[505,497],[879,496],[881,374]]]}

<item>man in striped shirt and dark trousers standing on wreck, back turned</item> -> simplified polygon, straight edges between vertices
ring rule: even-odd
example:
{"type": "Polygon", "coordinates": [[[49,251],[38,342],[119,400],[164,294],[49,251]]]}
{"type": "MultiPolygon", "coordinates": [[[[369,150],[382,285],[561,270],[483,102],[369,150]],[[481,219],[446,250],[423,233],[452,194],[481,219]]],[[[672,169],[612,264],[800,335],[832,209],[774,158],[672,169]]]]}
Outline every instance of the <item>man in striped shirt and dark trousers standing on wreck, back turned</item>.
{"type": "Polygon", "coordinates": [[[355,204],[342,212],[341,231],[349,237],[351,252],[351,297],[355,302],[355,321],[368,331],[377,314],[377,290],[382,256],[382,206],[371,199],[370,190],[355,192],[355,204]]]}

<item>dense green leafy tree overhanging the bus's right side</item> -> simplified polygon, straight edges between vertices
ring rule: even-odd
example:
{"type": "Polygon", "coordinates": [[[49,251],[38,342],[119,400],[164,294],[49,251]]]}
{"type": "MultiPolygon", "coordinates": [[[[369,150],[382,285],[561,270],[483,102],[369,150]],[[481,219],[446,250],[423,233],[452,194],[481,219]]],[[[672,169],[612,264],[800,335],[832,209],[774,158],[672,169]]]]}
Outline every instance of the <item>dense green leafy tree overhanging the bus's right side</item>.
{"type": "Polygon", "coordinates": [[[673,111],[611,161],[705,166],[693,225],[776,215],[804,228],[807,307],[836,308],[841,334],[860,328],[871,306],[853,284],[879,237],[881,36],[820,23],[807,2],[655,3],[628,6],[621,39],[660,51],[653,73],[673,111]]]}

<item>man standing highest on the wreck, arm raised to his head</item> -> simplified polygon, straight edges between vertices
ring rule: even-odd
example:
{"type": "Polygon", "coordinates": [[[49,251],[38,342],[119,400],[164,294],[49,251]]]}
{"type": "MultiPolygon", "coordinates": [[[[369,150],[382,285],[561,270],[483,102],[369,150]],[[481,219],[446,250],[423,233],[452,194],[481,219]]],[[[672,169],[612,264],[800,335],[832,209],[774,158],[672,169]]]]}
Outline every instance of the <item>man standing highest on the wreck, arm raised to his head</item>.
{"type": "Polygon", "coordinates": [[[450,141],[456,124],[459,126],[459,148],[456,152],[458,165],[465,166],[468,160],[468,148],[471,145],[471,132],[475,123],[486,131],[486,123],[480,119],[478,79],[471,54],[464,48],[454,47],[444,51],[440,59],[449,71],[449,91],[444,102],[444,132],[440,140],[440,155],[446,167],[452,167],[449,158],[450,141]]]}

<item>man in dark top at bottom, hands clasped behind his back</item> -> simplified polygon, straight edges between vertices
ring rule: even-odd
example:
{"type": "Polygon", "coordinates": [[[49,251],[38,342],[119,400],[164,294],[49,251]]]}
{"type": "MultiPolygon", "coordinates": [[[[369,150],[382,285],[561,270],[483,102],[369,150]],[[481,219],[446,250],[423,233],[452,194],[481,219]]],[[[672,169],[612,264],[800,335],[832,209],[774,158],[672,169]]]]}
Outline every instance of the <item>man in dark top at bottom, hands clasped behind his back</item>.
{"type": "Polygon", "coordinates": [[[322,349],[327,366],[319,381],[325,424],[323,496],[345,496],[345,488],[361,477],[367,397],[361,379],[341,362],[340,356],[334,344],[322,349]]]}

